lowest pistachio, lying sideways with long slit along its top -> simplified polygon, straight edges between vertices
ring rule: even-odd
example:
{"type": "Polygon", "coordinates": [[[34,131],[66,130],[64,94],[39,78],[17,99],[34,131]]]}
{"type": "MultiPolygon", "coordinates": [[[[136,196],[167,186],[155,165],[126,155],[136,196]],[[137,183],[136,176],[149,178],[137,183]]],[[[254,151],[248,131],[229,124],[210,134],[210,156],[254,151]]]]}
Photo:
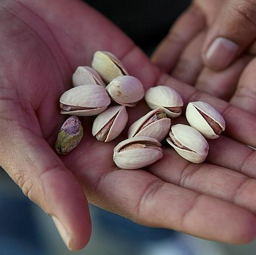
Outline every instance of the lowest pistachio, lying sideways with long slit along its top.
{"type": "Polygon", "coordinates": [[[162,157],[161,143],[150,137],[133,137],[114,148],[113,161],[122,169],[138,169],[162,157]]]}

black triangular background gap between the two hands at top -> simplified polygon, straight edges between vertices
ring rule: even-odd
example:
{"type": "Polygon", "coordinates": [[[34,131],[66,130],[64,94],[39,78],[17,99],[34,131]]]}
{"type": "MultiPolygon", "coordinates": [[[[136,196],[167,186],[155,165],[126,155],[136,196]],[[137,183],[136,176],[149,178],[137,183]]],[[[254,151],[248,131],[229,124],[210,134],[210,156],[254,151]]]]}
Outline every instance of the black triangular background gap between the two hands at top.
{"type": "Polygon", "coordinates": [[[167,34],[190,0],[85,1],[119,26],[147,54],[167,34]]]}

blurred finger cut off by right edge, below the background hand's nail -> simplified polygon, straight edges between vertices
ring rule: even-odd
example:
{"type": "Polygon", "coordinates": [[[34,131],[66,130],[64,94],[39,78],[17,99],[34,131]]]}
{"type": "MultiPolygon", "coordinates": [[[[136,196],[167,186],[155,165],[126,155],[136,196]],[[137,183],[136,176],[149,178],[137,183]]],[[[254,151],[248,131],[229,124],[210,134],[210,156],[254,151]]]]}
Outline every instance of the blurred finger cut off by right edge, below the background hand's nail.
{"type": "Polygon", "coordinates": [[[253,115],[256,115],[255,66],[256,58],[253,58],[243,71],[236,93],[230,100],[230,104],[238,106],[253,115]]]}

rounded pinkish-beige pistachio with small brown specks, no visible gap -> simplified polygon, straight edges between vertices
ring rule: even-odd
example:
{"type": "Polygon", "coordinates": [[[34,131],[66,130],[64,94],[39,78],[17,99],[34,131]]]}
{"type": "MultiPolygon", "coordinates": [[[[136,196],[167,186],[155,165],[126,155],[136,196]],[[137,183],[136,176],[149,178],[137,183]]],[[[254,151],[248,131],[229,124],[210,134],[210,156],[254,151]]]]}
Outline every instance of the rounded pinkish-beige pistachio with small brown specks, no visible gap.
{"type": "Polygon", "coordinates": [[[135,106],[143,99],[145,91],[141,81],[133,76],[119,76],[113,79],[106,87],[110,97],[118,104],[135,106]]]}

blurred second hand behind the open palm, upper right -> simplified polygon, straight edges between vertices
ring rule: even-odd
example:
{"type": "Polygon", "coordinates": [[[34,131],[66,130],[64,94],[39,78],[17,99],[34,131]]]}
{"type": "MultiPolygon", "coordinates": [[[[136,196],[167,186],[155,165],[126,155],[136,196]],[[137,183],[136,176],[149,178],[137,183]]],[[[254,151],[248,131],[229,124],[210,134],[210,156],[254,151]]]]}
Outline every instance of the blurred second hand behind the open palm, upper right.
{"type": "MultiPolygon", "coordinates": [[[[253,20],[253,1],[194,0],[159,44],[152,61],[173,77],[255,114],[254,74],[249,71],[248,77],[247,71],[255,65],[252,56],[255,44],[245,52],[255,32],[250,19],[242,15],[245,12],[253,20]],[[239,48],[236,54],[225,53],[225,47],[219,48],[212,54],[213,59],[220,58],[214,66],[207,60],[206,52],[219,37],[229,38],[239,48]]],[[[234,46],[231,42],[229,45],[234,46]]]]}

